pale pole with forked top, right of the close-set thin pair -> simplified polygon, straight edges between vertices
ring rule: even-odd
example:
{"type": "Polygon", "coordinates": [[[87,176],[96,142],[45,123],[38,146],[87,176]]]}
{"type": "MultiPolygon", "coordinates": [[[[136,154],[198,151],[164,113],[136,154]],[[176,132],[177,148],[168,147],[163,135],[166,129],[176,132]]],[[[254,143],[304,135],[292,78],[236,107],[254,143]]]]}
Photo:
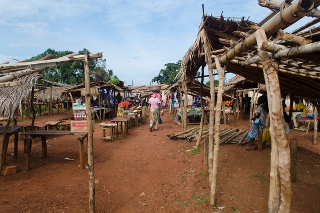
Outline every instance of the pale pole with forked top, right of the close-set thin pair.
{"type": "Polygon", "coordinates": [[[217,174],[218,174],[218,157],[219,157],[219,144],[220,144],[220,117],[222,109],[222,94],[223,94],[223,84],[224,84],[224,70],[226,66],[222,67],[220,65],[219,59],[214,59],[217,72],[219,76],[219,87],[217,94],[217,105],[215,111],[215,126],[214,126],[214,149],[213,149],[213,171],[212,171],[212,181],[211,181],[211,193],[210,193],[210,204],[215,205],[215,191],[217,185],[217,174]]]}

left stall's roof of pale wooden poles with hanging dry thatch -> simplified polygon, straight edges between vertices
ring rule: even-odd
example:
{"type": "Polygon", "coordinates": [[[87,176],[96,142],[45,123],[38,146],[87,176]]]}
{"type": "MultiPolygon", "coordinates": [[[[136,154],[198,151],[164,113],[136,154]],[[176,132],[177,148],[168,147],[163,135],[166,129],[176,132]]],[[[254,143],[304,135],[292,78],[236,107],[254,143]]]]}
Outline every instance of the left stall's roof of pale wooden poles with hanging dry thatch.
{"type": "MultiPolygon", "coordinates": [[[[91,53],[88,56],[99,58],[102,53],[91,53]]],[[[19,111],[22,113],[22,101],[30,101],[32,88],[41,77],[37,72],[63,62],[84,60],[85,55],[71,53],[55,59],[52,57],[49,54],[37,61],[0,64],[0,116],[13,120],[19,111]]]]}

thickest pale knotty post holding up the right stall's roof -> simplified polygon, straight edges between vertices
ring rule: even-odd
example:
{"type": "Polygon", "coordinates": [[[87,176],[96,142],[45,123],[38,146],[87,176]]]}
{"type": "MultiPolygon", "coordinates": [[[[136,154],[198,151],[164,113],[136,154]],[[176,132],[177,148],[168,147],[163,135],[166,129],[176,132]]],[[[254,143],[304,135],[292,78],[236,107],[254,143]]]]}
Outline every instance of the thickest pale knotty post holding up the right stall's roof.
{"type": "MultiPolygon", "coordinates": [[[[277,74],[278,64],[276,64],[265,51],[262,51],[259,48],[263,41],[267,41],[265,31],[260,28],[254,34],[258,44],[258,55],[260,56],[261,63],[263,65],[263,75],[268,95],[268,105],[270,110],[269,116],[270,123],[272,124],[270,133],[271,135],[276,135],[271,137],[271,141],[272,144],[277,143],[278,145],[278,162],[271,162],[271,165],[278,164],[281,183],[279,211],[291,212],[292,191],[290,179],[290,149],[288,141],[285,138],[285,131],[283,128],[284,118],[283,113],[281,112],[281,93],[277,74]]],[[[272,207],[273,206],[269,206],[269,211],[272,207]]]]}

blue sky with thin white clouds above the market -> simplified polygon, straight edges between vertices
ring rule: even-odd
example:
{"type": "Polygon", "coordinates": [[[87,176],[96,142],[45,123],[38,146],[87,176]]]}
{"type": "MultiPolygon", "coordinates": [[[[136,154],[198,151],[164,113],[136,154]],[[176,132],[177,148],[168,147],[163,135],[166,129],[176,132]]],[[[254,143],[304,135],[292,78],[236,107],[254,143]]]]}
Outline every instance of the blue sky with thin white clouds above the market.
{"type": "Polygon", "coordinates": [[[224,17],[250,16],[254,22],[270,13],[257,0],[0,0],[0,62],[48,48],[87,48],[103,52],[107,68],[126,85],[147,85],[192,45],[202,3],[207,14],[223,10],[224,17]]]}

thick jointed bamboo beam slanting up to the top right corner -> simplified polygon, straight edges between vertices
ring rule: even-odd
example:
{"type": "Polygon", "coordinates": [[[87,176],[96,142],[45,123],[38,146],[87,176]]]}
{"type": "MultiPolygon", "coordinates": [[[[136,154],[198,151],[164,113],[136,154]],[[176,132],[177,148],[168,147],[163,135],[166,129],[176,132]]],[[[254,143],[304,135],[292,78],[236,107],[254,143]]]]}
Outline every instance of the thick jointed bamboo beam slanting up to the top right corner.
{"type": "MultiPolygon", "coordinates": [[[[305,16],[306,13],[313,8],[313,5],[314,2],[312,0],[296,0],[288,7],[284,8],[281,14],[277,14],[271,20],[262,25],[261,29],[266,32],[267,36],[273,35],[279,29],[289,26],[301,17],[305,16]]],[[[236,46],[229,49],[229,51],[220,58],[220,63],[225,64],[228,60],[255,44],[255,33],[253,33],[243,41],[239,42],[236,46]]],[[[212,68],[216,68],[215,63],[212,64],[212,68]]]]}

